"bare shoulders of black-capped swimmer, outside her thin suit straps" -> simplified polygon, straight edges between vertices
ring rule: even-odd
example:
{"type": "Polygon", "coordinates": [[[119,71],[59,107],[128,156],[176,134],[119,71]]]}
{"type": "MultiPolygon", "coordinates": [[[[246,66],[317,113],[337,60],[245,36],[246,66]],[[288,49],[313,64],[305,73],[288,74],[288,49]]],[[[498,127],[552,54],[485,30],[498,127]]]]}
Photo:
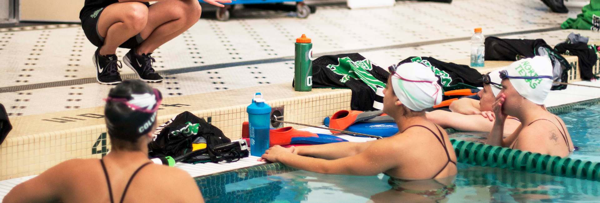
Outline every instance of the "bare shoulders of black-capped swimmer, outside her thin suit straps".
{"type": "MultiPolygon", "coordinates": [[[[15,186],[2,202],[89,201],[98,196],[98,187],[106,187],[101,167],[99,159],[66,160],[15,186]]],[[[200,189],[187,172],[155,164],[139,171],[126,196],[137,201],[204,202],[200,189]]]]}

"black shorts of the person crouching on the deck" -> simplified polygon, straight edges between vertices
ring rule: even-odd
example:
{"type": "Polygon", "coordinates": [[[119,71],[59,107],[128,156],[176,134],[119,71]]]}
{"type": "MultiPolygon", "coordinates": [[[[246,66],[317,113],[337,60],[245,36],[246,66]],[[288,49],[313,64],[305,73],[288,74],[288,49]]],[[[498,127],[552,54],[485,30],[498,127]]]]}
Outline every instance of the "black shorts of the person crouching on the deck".
{"type": "MultiPolygon", "coordinates": [[[[150,7],[149,4],[146,4],[146,6],[150,7]]],[[[91,10],[88,13],[83,14],[83,18],[81,19],[81,26],[83,28],[83,33],[85,33],[85,37],[88,37],[88,40],[97,47],[104,45],[104,38],[101,37],[100,33],[98,32],[98,19],[100,19],[100,14],[102,14],[104,8],[91,10]]],[[[119,47],[125,49],[134,49],[142,44],[143,41],[144,40],[140,34],[137,34],[136,36],[129,38],[119,47]]]]}

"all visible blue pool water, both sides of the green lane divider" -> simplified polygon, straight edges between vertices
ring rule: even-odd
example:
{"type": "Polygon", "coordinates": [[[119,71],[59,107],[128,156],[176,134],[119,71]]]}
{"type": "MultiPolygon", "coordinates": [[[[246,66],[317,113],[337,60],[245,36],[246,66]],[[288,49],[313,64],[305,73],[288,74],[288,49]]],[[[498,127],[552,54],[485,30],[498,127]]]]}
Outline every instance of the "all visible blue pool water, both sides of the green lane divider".
{"type": "MultiPolygon", "coordinates": [[[[571,157],[600,162],[600,104],[557,112],[578,150],[571,157]]],[[[481,141],[485,134],[451,137],[481,141]]],[[[324,175],[279,163],[196,178],[206,202],[598,202],[600,182],[458,163],[455,186],[445,195],[398,192],[389,177],[324,175]]],[[[421,190],[441,184],[410,182],[421,190]]],[[[431,187],[431,188],[428,188],[431,187]]]]}

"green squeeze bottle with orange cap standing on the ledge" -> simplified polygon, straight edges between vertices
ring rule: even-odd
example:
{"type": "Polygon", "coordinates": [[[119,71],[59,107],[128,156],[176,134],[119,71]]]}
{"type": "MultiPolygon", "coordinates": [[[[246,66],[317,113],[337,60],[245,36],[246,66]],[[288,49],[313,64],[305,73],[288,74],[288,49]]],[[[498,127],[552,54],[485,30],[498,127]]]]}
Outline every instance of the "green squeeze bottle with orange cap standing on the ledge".
{"type": "Polygon", "coordinates": [[[313,90],[313,43],[304,34],[296,39],[294,90],[300,92],[313,90]]]}

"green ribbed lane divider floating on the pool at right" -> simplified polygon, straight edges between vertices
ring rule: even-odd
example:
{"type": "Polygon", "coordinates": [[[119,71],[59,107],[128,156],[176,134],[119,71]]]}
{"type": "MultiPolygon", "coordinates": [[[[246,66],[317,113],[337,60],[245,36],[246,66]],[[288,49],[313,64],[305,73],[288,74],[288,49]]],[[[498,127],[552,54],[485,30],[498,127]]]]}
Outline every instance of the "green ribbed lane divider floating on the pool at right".
{"type": "Polygon", "coordinates": [[[458,162],[600,181],[600,163],[451,138],[458,162]]]}

